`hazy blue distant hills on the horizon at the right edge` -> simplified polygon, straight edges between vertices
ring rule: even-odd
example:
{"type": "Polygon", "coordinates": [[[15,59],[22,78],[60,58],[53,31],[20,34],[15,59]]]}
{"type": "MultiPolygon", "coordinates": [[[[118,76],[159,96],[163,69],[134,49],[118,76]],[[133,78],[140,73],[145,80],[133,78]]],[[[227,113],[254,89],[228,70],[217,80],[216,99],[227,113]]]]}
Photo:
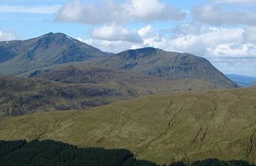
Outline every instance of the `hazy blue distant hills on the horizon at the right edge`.
{"type": "Polygon", "coordinates": [[[237,74],[226,74],[226,76],[236,82],[239,86],[251,86],[253,82],[256,81],[255,77],[249,77],[246,75],[237,75],[237,74]]]}

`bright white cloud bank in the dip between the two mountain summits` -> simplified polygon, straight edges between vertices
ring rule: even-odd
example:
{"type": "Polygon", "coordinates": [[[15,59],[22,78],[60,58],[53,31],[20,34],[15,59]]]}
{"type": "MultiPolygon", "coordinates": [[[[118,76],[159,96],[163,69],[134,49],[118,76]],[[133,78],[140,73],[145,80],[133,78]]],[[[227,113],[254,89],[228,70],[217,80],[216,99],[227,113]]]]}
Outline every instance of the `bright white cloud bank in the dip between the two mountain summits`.
{"type": "Polygon", "coordinates": [[[84,41],[108,52],[120,52],[141,47],[164,48],[166,45],[164,36],[156,33],[151,25],[133,30],[113,25],[104,26],[94,29],[90,35],[90,38],[87,40],[83,40],[82,38],[77,38],[77,40],[84,41]],[[106,33],[107,31],[109,32],[106,33]],[[132,34],[134,37],[131,38],[127,34],[132,34]]]}

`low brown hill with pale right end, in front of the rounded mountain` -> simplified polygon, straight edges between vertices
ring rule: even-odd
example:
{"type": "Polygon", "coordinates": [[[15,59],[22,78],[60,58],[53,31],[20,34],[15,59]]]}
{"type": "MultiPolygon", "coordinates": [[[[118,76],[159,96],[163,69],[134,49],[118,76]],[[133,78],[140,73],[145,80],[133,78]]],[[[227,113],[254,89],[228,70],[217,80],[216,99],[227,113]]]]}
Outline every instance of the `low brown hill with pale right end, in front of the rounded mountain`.
{"type": "Polygon", "coordinates": [[[216,88],[211,83],[199,79],[170,79],[83,64],[65,66],[50,72],[44,72],[40,75],[36,75],[36,78],[72,84],[104,84],[104,82],[116,82],[130,87],[131,89],[136,89],[140,94],[216,88]]]}

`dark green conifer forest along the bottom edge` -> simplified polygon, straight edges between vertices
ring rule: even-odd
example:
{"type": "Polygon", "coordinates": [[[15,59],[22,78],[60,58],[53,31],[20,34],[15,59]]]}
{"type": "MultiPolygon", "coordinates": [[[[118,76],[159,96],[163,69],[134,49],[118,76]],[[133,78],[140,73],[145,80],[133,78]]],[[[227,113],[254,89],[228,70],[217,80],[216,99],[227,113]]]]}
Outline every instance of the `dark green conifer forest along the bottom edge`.
{"type": "MultiPolygon", "coordinates": [[[[0,140],[0,165],[145,165],[156,166],[156,163],[134,158],[126,149],[103,149],[95,147],[78,148],[70,144],[53,140],[0,140]]],[[[216,158],[196,161],[191,166],[253,166],[243,160],[223,161],[216,158]]],[[[170,166],[186,166],[176,162],[170,166]]]]}

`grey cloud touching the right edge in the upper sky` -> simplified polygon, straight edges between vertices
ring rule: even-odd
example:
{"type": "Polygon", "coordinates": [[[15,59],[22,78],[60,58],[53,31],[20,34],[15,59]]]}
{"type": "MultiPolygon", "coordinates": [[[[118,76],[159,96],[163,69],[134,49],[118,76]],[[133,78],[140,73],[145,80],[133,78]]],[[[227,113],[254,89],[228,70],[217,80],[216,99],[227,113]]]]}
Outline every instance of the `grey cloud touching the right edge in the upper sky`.
{"type": "Polygon", "coordinates": [[[216,4],[206,4],[196,6],[191,10],[191,14],[196,20],[213,25],[256,25],[256,10],[234,9],[225,10],[223,6],[216,4]]]}

